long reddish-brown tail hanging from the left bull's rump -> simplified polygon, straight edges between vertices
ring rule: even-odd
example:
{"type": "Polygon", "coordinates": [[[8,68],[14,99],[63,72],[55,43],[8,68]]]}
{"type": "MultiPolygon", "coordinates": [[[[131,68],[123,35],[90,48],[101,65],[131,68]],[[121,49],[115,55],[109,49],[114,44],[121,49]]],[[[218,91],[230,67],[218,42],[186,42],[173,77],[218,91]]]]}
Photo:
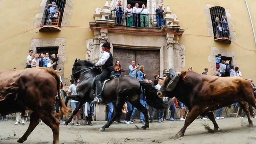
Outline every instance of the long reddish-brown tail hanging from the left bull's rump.
{"type": "Polygon", "coordinates": [[[59,113],[56,113],[56,117],[59,118],[63,115],[67,115],[69,114],[69,110],[70,108],[67,108],[67,106],[65,105],[62,97],[61,97],[61,94],[60,94],[60,75],[58,74],[58,72],[56,72],[55,70],[53,69],[46,69],[47,72],[49,72],[57,81],[57,93],[58,93],[58,98],[61,102],[61,110],[59,113]]]}

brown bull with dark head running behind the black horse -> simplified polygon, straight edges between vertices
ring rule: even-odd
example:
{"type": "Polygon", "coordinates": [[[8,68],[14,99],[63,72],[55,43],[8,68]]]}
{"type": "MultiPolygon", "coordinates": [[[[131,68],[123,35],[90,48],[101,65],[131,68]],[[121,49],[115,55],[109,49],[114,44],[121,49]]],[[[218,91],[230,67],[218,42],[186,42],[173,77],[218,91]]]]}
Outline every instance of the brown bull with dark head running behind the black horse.
{"type": "Polygon", "coordinates": [[[170,74],[163,80],[163,85],[157,93],[159,97],[176,97],[184,103],[189,113],[184,126],[176,136],[184,136],[186,128],[198,117],[207,116],[214,124],[214,130],[219,127],[215,121],[213,111],[224,106],[239,102],[240,107],[248,116],[249,125],[253,125],[246,102],[255,107],[256,99],[251,84],[241,77],[216,77],[197,74],[195,72],[182,72],[180,79],[172,91],[167,91],[170,74]]]}

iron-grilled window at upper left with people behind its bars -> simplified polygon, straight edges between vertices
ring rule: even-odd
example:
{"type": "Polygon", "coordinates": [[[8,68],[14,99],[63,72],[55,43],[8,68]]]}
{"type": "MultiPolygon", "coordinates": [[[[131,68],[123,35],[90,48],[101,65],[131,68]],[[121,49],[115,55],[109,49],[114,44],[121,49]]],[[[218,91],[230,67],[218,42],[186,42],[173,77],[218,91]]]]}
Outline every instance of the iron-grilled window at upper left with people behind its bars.
{"type": "Polygon", "coordinates": [[[47,0],[41,25],[61,27],[66,0],[47,0]]]}

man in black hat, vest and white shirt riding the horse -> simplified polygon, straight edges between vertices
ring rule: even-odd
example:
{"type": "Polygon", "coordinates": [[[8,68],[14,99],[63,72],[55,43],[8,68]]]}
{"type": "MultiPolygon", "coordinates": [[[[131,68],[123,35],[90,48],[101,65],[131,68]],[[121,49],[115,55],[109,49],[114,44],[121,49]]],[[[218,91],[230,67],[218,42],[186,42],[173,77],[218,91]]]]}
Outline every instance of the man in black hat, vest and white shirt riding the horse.
{"type": "Polygon", "coordinates": [[[111,72],[114,71],[113,68],[113,58],[110,50],[110,44],[104,42],[102,45],[102,57],[95,64],[95,67],[102,66],[102,73],[98,75],[95,85],[95,98],[91,103],[102,102],[102,81],[108,78],[111,75],[111,72]]]}

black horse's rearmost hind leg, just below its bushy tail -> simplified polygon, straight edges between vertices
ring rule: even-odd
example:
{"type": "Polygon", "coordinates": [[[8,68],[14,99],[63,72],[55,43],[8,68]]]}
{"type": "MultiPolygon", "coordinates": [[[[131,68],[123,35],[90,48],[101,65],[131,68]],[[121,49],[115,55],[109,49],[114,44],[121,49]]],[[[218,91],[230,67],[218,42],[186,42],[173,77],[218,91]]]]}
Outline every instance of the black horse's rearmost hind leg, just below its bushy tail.
{"type": "Polygon", "coordinates": [[[146,129],[149,127],[149,122],[148,122],[148,115],[147,115],[147,108],[145,108],[141,103],[140,103],[140,96],[137,96],[138,98],[134,101],[130,101],[130,103],[135,106],[139,111],[141,111],[145,117],[145,125],[142,126],[142,129],[146,129]]]}

